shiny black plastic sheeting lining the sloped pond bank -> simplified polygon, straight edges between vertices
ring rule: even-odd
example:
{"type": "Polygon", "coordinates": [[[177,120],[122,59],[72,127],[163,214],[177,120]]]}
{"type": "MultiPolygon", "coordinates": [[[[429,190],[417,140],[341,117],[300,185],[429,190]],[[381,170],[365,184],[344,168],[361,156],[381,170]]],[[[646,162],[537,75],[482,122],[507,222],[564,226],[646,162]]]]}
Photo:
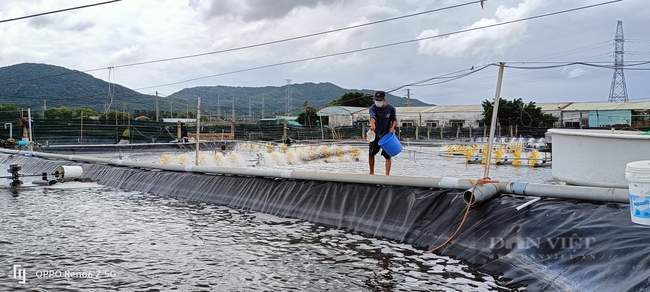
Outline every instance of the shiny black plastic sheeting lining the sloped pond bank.
{"type": "MultiPolygon", "coordinates": [[[[14,157],[23,173],[60,162],[14,157]]],[[[70,164],[70,163],[66,163],[70,164]]],[[[84,165],[84,176],[112,187],[294,217],[429,249],[451,236],[463,190],[341,184],[147,171],[84,165]]],[[[630,222],[629,206],[543,200],[516,212],[522,198],[473,208],[439,253],[502,275],[530,291],[644,291],[650,288],[650,228],[630,222]]]]}

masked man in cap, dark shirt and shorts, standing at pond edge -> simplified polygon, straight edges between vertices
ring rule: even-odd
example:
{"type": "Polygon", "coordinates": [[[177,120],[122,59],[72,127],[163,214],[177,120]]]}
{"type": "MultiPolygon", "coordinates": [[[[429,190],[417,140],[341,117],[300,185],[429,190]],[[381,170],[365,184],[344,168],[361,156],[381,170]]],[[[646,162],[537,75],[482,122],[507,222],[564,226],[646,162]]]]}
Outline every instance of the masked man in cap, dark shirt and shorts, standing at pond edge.
{"type": "Polygon", "coordinates": [[[370,106],[370,131],[375,132],[375,140],[370,142],[370,156],[368,164],[370,174],[375,174],[375,155],[381,149],[381,155],[386,158],[386,175],[390,175],[391,159],[388,153],[379,146],[381,137],[388,133],[395,133],[397,117],[395,107],[386,102],[386,93],[383,91],[375,92],[375,104],[370,106]]]}

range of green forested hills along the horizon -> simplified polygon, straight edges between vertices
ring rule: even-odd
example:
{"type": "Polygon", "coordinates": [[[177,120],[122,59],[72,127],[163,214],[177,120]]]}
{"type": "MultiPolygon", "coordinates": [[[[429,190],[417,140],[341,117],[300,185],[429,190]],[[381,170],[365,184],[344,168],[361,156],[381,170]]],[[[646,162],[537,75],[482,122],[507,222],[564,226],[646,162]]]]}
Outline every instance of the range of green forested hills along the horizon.
{"type": "MultiPolygon", "coordinates": [[[[112,109],[132,112],[134,109],[155,110],[153,95],[146,95],[119,84],[114,88],[112,109]]],[[[0,68],[0,104],[14,104],[18,107],[31,107],[40,111],[44,100],[47,107],[66,106],[70,108],[89,107],[102,112],[110,103],[109,83],[87,73],[64,67],[22,63],[0,68]]],[[[344,89],[331,83],[303,83],[280,87],[233,87],[200,86],[185,88],[167,97],[159,97],[162,116],[174,111],[179,113],[196,109],[197,97],[201,97],[202,109],[210,115],[221,113],[230,117],[235,100],[237,116],[250,114],[254,117],[283,115],[287,111],[287,96],[291,96],[291,109],[297,114],[305,102],[318,109],[346,92],[359,91],[372,94],[374,90],[344,89]]],[[[406,98],[388,95],[388,101],[395,106],[406,105],[406,98]]],[[[427,105],[412,99],[414,106],[427,105]]],[[[206,114],[204,113],[204,114],[206,114]]],[[[191,114],[193,115],[193,114],[191,114]]]]}

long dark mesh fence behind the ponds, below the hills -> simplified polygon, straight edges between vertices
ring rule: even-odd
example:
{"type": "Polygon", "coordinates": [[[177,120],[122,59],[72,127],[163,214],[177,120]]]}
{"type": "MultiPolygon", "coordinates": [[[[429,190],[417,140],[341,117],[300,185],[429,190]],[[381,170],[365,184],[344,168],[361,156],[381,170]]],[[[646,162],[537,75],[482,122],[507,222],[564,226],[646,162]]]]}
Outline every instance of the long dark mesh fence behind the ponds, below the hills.
{"type": "MultiPolygon", "coordinates": [[[[26,137],[23,128],[17,123],[12,124],[13,138],[26,137]]],[[[514,132],[510,129],[496,129],[496,135],[501,137],[544,137],[546,128],[518,127],[514,132]]],[[[246,141],[276,141],[291,140],[363,140],[367,128],[363,126],[286,126],[239,123],[235,125],[202,124],[201,140],[246,140],[246,141]],[[234,137],[232,136],[234,132],[234,137]]],[[[0,139],[9,138],[10,129],[0,134],[0,139]]],[[[130,121],[116,124],[111,120],[36,120],[32,128],[33,140],[48,145],[74,144],[115,144],[121,140],[129,143],[164,143],[187,136],[195,137],[196,124],[183,125],[179,131],[177,123],[162,123],[151,121],[130,121]]],[[[397,127],[396,135],[400,140],[438,140],[457,138],[476,138],[489,135],[489,128],[468,127],[397,127]]]]}

